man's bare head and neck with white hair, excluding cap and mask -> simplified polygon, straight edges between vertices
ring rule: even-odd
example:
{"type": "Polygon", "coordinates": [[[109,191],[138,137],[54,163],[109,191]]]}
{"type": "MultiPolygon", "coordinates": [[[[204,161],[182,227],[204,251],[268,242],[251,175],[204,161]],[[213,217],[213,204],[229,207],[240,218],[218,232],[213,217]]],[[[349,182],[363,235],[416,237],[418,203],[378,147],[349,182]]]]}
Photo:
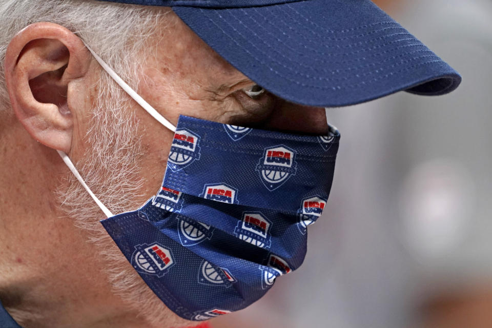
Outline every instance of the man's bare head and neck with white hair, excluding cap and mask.
{"type": "Polygon", "coordinates": [[[54,151],[69,154],[114,213],[154,194],[166,168],[172,132],[100,69],[82,39],[174,124],[185,114],[318,133],[324,110],[249,96],[255,83],[168,8],[9,1],[0,17],[4,305],[26,327],[124,327],[137,314],[156,326],[185,324],[121,256],[98,222],[103,214],[54,151]]]}

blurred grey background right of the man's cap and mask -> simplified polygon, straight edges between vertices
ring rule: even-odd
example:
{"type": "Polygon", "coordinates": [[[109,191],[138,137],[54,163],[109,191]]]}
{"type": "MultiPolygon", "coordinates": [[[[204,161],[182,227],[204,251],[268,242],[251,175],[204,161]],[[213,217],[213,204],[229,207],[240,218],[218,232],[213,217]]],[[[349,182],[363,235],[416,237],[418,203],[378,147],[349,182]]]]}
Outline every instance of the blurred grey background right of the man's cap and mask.
{"type": "Polygon", "coordinates": [[[304,265],[214,328],[492,327],[492,1],[375,2],[463,83],[331,109],[335,180],[304,265]]]}

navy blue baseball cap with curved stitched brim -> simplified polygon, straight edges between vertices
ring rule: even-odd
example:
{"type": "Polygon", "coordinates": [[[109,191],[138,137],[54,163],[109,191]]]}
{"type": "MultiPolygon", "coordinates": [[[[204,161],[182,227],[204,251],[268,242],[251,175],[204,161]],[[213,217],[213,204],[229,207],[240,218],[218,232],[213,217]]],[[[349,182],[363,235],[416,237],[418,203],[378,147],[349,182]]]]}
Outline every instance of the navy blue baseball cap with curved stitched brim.
{"type": "Polygon", "coordinates": [[[103,0],[169,6],[236,69],[295,103],[397,91],[442,95],[461,76],[370,0],[103,0]]]}

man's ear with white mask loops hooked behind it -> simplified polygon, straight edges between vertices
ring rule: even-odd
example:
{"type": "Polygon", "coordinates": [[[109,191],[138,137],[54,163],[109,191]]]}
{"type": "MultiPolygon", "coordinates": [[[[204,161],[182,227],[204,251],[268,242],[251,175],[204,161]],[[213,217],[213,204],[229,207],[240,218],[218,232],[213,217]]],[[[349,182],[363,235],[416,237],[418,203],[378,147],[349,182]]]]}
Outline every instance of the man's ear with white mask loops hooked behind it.
{"type": "MultiPolygon", "coordinates": [[[[84,77],[90,53],[78,36],[53,23],[35,23],[18,32],[5,56],[5,79],[12,109],[40,143],[70,151],[74,119],[69,85],[84,77]]],[[[76,98],[76,97],[75,97],[76,98]]]]}

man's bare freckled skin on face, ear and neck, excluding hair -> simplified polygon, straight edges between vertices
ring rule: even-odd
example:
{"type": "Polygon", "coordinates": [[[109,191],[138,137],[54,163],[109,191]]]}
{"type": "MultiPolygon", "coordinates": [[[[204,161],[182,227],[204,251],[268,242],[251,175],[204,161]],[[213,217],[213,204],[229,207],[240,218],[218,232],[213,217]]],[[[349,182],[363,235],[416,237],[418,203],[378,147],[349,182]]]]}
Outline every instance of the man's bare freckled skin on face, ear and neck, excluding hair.
{"type": "MultiPolygon", "coordinates": [[[[241,90],[255,85],[253,81],[204,44],[173,13],[163,19],[162,26],[168,28],[148,39],[146,49],[149,51],[145,53],[149,55],[143,56],[145,65],[137,92],[173,124],[181,114],[264,129],[326,132],[324,109],[289,104],[268,92],[258,99],[248,97],[241,90]]],[[[75,35],[52,25],[42,23],[36,29],[24,30],[21,36],[30,37],[29,33],[39,33],[39,27],[43,27],[52,33],[52,39],[59,36],[66,44],[75,45],[71,48],[70,60],[76,56],[81,64],[79,67],[69,64],[67,70],[71,70],[74,77],[65,80],[67,102],[60,105],[71,114],[72,126],[64,132],[70,134],[70,142],[57,149],[66,151],[76,162],[91,150],[85,135],[98,94],[94,86],[101,68],[87,49],[77,48],[80,40],[75,35]]],[[[14,57],[6,56],[7,64],[17,65],[12,64],[12,69],[6,71],[9,93],[16,100],[13,104],[30,104],[32,95],[29,93],[36,90],[43,90],[44,101],[62,101],[55,93],[65,90],[61,88],[63,84],[20,90],[22,72],[18,75],[10,72],[15,72],[15,67],[21,70],[20,65],[23,65],[22,70],[35,70],[38,64],[36,57],[32,60],[21,57],[17,62],[19,53],[14,57]],[[51,98],[50,92],[53,93],[51,98]]],[[[47,53],[51,59],[66,55],[66,51],[47,53]]],[[[55,77],[56,74],[44,75],[36,80],[36,85],[55,77]]],[[[41,105],[33,105],[33,110],[36,106],[41,105]]],[[[142,196],[132,204],[138,208],[160,186],[173,133],[130,98],[121,114],[134,115],[142,137],[143,154],[138,160],[145,168],[140,173],[145,183],[139,193],[142,196]]],[[[0,115],[0,299],[8,309],[18,306],[40,316],[36,322],[23,323],[25,328],[141,327],[136,313],[129,311],[128,306],[112,294],[99,269],[103,265],[94,256],[97,250],[87,242],[87,233],[77,229],[56,202],[53,192],[60,183],[66,183],[63,177],[68,169],[58,154],[46,145],[58,145],[59,140],[47,134],[36,139],[10,109],[0,115]]],[[[49,119],[43,120],[43,124],[47,132],[53,128],[49,119]]],[[[104,218],[102,212],[97,215],[104,218]]]]}

